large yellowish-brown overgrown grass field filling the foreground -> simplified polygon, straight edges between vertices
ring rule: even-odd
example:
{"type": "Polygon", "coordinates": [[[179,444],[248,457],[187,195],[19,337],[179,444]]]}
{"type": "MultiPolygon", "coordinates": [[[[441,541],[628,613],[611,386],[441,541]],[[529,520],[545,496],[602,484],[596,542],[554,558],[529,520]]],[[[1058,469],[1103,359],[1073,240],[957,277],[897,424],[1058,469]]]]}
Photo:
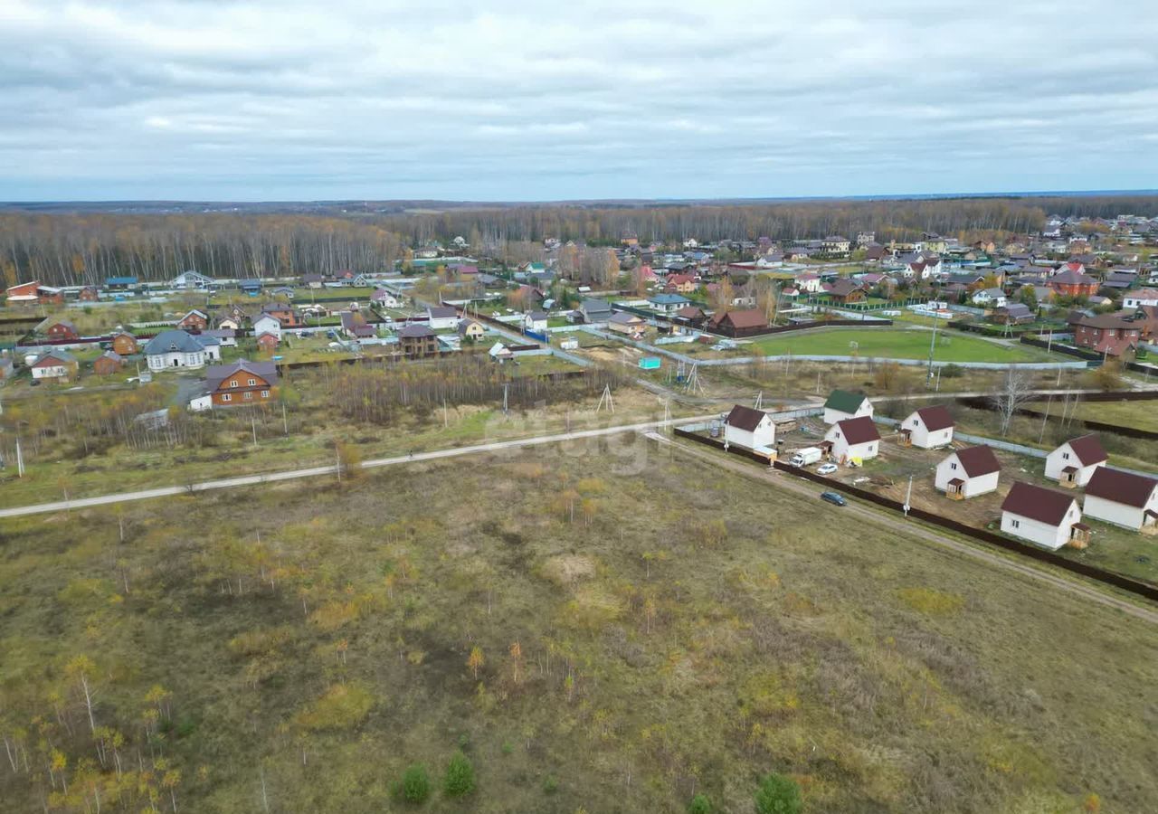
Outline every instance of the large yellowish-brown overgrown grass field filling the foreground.
{"type": "Polygon", "coordinates": [[[768,490],[636,439],[6,522],[0,799],[404,811],[412,763],[435,812],[1158,799],[1152,626],[768,490]]]}

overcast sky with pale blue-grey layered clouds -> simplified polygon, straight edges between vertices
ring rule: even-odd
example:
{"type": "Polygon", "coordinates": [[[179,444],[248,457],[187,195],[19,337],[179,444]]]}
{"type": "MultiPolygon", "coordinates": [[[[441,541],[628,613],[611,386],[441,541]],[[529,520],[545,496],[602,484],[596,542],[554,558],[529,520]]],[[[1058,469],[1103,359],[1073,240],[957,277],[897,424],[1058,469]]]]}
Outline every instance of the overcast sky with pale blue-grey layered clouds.
{"type": "Polygon", "coordinates": [[[0,199],[1158,188],[1158,2],[0,0],[0,199]]]}

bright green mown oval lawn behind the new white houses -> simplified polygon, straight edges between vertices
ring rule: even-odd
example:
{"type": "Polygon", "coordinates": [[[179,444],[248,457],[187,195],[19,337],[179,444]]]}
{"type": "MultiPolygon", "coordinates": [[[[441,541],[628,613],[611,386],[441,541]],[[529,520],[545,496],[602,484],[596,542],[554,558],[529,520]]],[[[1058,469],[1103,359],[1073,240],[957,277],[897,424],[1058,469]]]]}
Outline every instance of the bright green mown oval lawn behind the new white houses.
{"type": "MultiPolygon", "coordinates": [[[[743,355],[858,355],[878,359],[928,359],[931,331],[899,328],[829,328],[774,333],[740,346],[743,355]],[[853,346],[851,343],[856,343],[853,346]]],[[[1048,361],[1049,354],[1033,347],[1005,346],[979,337],[938,331],[936,361],[1024,362],[1048,361]]]]}

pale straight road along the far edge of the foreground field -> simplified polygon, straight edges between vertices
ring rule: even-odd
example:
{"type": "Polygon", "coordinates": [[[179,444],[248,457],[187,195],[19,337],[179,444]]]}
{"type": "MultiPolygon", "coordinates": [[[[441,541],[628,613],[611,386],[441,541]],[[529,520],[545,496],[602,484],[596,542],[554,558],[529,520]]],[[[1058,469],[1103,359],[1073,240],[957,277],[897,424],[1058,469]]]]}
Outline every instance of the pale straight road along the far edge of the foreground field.
{"type": "MultiPolygon", "coordinates": [[[[372,461],[364,461],[362,469],[376,469],[379,467],[391,467],[402,463],[415,463],[417,461],[435,461],[445,457],[457,457],[460,455],[472,455],[475,453],[489,453],[499,449],[511,449],[515,447],[533,447],[543,443],[558,443],[560,441],[573,441],[585,438],[599,438],[601,435],[615,435],[624,432],[640,432],[654,430],[655,427],[672,424],[690,424],[692,421],[705,421],[718,418],[719,413],[708,413],[704,416],[687,416],[683,418],[670,418],[658,421],[642,421],[638,424],[621,424],[599,430],[580,430],[577,432],[556,433],[554,435],[536,435],[533,438],[515,438],[506,441],[492,441],[490,443],[475,443],[468,447],[452,447],[449,449],[435,449],[428,453],[413,453],[411,455],[397,455],[395,457],[381,457],[372,461]]],[[[126,503],[129,500],[148,500],[149,498],[163,498],[173,494],[190,494],[193,492],[207,492],[214,489],[236,489],[239,486],[254,486],[263,483],[277,483],[279,481],[295,481],[299,478],[313,478],[325,475],[337,475],[336,465],[310,467],[308,469],[293,469],[284,472],[270,472],[266,475],[243,475],[233,478],[221,478],[219,481],[204,481],[184,486],[159,486],[156,489],[142,489],[135,492],[119,492],[117,494],[102,494],[94,498],[76,498],[74,500],[58,500],[56,503],[36,504],[32,506],[14,506],[12,508],[0,508],[0,518],[16,518],[24,514],[43,514],[46,512],[61,512],[71,508],[86,508],[88,506],[107,506],[109,504],[126,503]]]]}

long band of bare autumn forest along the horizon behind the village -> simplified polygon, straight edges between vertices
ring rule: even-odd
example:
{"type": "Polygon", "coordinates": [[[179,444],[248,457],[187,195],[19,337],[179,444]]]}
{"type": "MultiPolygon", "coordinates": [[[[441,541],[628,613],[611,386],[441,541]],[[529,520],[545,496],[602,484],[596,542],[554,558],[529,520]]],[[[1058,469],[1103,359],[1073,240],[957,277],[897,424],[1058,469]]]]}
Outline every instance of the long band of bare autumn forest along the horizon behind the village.
{"type": "Polygon", "coordinates": [[[1048,214],[1158,215],[1158,196],[809,200],[762,204],[538,204],[456,207],[391,214],[0,214],[0,270],[6,285],[38,279],[87,285],[107,277],[166,280],[190,269],[250,278],[343,269],[380,272],[410,247],[466,237],[504,256],[508,243],[544,237],[614,244],[823,237],[872,230],[878,241],[922,232],[950,236],[1040,230],[1048,214]]]}

